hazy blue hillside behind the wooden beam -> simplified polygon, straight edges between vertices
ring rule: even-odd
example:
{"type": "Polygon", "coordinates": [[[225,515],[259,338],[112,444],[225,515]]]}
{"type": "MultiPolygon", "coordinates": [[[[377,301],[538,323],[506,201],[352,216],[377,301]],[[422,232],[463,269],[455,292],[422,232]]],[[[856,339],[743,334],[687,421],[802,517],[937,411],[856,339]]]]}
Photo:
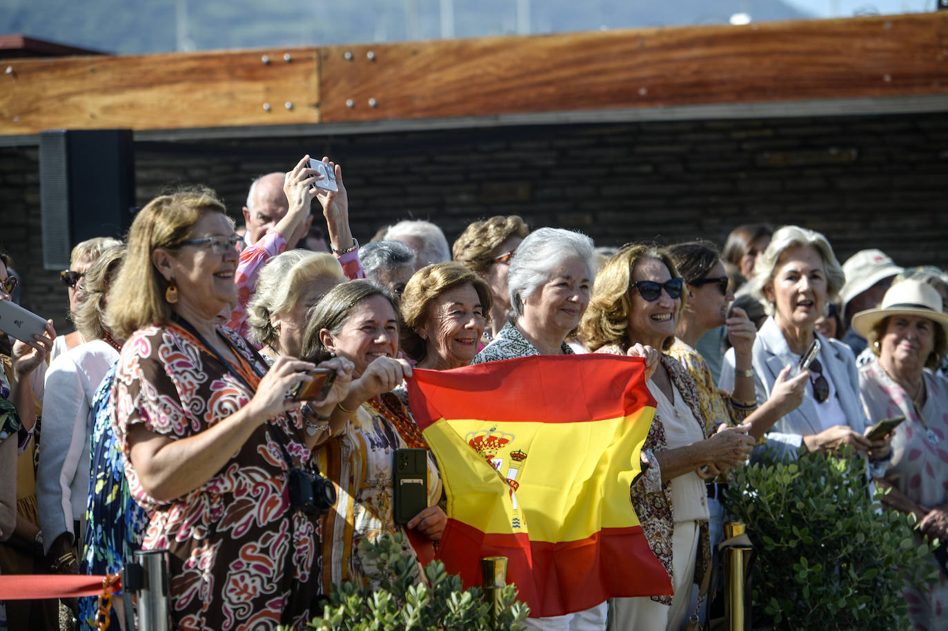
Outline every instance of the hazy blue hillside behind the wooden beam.
{"type": "Polygon", "coordinates": [[[138,54],[265,46],[389,42],[599,28],[727,24],[809,17],[782,0],[4,0],[0,33],[138,54]],[[443,26],[442,7],[453,8],[443,26]],[[524,9],[527,9],[524,12],[524,9]],[[529,15],[528,19],[524,16],[529,15]],[[453,33],[451,32],[453,28],[453,33]]]}

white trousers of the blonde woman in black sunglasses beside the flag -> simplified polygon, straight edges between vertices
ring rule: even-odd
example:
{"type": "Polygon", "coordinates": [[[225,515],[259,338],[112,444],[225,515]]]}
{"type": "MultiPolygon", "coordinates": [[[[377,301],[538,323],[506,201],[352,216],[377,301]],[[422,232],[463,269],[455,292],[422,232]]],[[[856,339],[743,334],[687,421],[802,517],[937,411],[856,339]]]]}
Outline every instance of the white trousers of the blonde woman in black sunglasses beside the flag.
{"type": "Polygon", "coordinates": [[[613,598],[609,606],[609,631],[680,631],[691,615],[691,592],[698,560],[698,522],[675,524],[671,541],[671,606],[645,596],[613,598]]]}

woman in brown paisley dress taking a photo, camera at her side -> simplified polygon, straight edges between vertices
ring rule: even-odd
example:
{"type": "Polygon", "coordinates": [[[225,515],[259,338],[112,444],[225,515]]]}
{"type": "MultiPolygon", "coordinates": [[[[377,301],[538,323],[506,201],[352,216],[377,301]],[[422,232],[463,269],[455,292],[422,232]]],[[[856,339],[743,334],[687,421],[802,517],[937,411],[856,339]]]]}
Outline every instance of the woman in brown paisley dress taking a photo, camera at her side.
{"type": "Polygon", "coordinates": [[[212,191],[155,198],[132,225],[106,311],[126,340],[112,424],[150,514],[142,548],[169,551],[181,629],[299,628],[319,613],[319,517],[291,506],[288,472],[309,468],[352,366],[325,362],[337,386],[313,404],[321,424],[304,425],[287,390],[314,365],[283,356],[266,371],[243,337],[215,325],[237,299],[239,240],[212,191]]]}

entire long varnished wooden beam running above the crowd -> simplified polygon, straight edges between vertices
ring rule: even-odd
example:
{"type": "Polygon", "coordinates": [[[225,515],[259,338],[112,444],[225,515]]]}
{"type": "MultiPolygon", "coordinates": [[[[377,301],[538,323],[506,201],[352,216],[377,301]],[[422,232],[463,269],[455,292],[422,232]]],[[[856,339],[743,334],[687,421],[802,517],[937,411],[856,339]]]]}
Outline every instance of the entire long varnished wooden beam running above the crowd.
{"type": "Polygon", "coordinates": [[[948,11],[746,27],[24,60],[2,64],[10,71],[0,74],[0,135],[895,101],[948,95],[946,64],[948,11]],[[284,53],[291,62],[283,61],[284,53]],[[264,55],[269,63],[262,63],[264,55]],[[292,109],[284,108],[287,101],[292,109]]]}

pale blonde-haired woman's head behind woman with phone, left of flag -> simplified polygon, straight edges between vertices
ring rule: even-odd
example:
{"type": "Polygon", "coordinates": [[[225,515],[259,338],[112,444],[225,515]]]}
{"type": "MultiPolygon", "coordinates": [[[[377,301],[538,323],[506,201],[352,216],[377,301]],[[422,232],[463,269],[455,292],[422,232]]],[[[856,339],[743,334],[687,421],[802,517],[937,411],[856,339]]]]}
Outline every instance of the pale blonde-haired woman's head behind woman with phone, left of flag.
{"type": "Polygon", "coordinates": [[[306,315],[330,289],[347,279],[336,257],[290,250],[266,263],[247,305],[247,339],[270,366],[280,355],[299,357],[306,315]]]}

